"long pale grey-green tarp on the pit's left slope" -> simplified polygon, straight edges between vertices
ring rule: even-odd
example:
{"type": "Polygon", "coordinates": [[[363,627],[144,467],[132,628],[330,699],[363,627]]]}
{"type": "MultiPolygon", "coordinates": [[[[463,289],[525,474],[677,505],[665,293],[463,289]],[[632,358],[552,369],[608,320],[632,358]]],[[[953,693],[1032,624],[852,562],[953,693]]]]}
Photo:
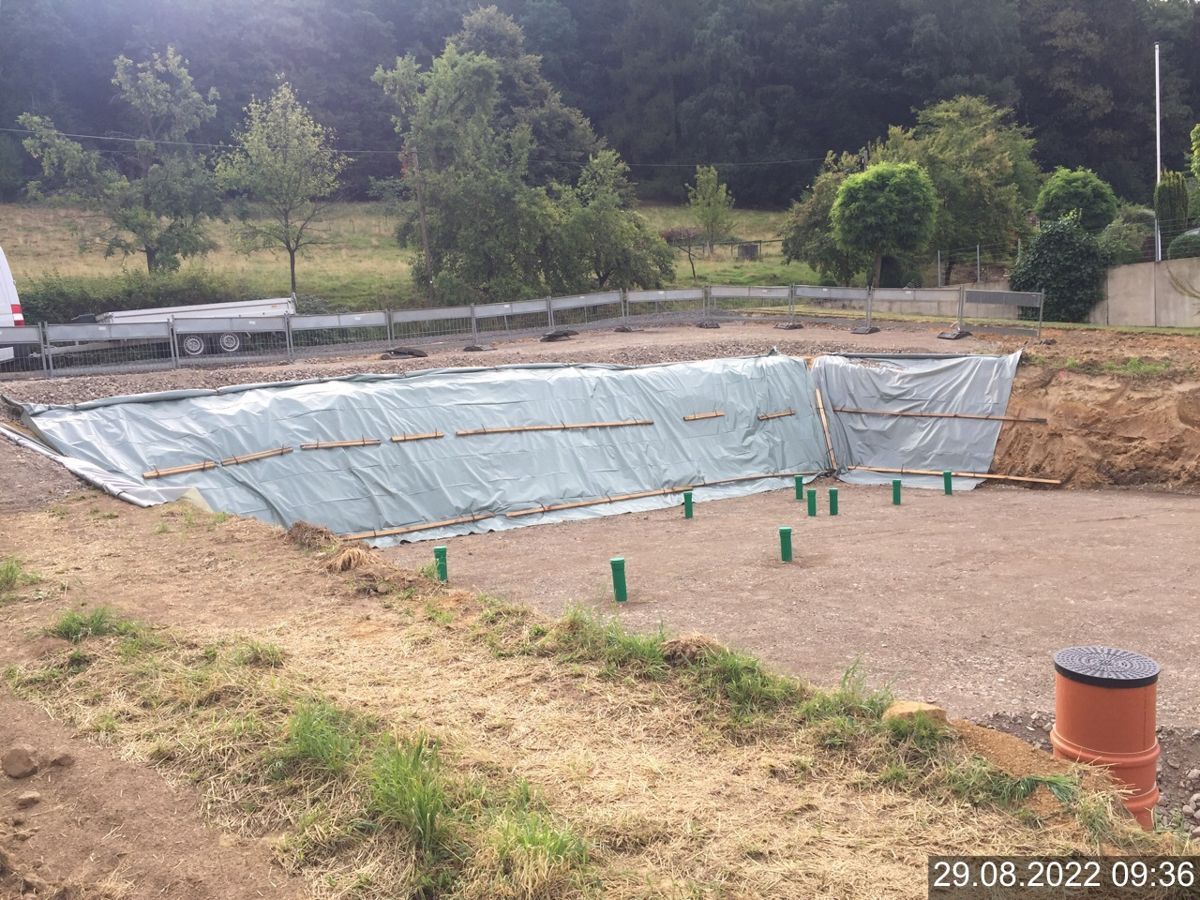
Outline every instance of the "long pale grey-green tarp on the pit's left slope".
{"type": "MultiPolygon", "coordinates": [[[[144,480],[139,499],[196,487],[214,510],[335,533],[383,530],[473,514],[420,539],[584,518],[680,503],[678,493],[510,518],[542,505],[827,468],[811,376],[767,355],[637,368],[523,366],[355,376],[218,391],[28,407],[25,422],[64,456],[124,479],[156,468],[272,448],[240,466],[144,480]],[[758,415],[792,410],[760,420],[758,415]],[[695,413],[720,418],[685,421],[695,413]],[[648,420],[653,425],[457,434],[463,430],[648,420]],[[445,437],[394,443],[395,434],[445,437]],[[376,446],[300,450],[304,443],[376,446]]],[[[89,476],[89,475],[85,475],[89,476]]],[[[90,478],[90,476],[89,476],[90,478]]],[[[95,480],[95,479],[92,479],[95,480]]],[[[696,499],[780,487],[760,479],[697,488],[696,499]]],[[[126,493],[128,488],[125,487],[126,493]]],[[[395,538],[374,542],[386,545],[395,538]]]]}

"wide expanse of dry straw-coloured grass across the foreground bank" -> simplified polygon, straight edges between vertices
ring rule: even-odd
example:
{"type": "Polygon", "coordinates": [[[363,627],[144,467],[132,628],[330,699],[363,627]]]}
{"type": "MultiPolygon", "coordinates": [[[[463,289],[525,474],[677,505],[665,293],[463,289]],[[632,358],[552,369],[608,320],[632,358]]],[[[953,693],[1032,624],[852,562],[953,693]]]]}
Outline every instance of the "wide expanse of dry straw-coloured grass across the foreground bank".
{"type": "Polygon", "coordinates": [[[774,712],[739,716],[712,664],[733,671],[748,658],[706,638],[626,641],[577,617],[556,625],[378,559],[330,576],[326,559],[266,527],[234,524],[190,532],[188,552],[235,548],[251,581],[268,565],[292,572],[286,612],[258,619],[248,641],[228,624],[161,634],[161,646],[154,634],[95,638],[76,674],[64,658],[58,674],[25,670],[17,686],[168,776],[199,773],[217,821],[278,835],[281,862],[304,865],[318,895],[404,894],[427,866],[404,834],[354,836],[361,786],[292,773],[281,792],[264,774],[289,715],[314,694],[380,733],[436,739],[452,804],[480,810],[446,895],[924,896],[932,853],[1147,846],[1115,817],[1111,792],[1069,810],[1044,803],[1043,787],[1010,809],[965,802],[954,779],[970,775],[985,794],[1000,779],[971,762],[974,746],[889,734],[846,712],[863,703],[853,685],[845,696],[797,690],[774,712]],[[239,665],[235,649],[250,642],[277,644],[283,668],[239,665]],[[522,784],[535,800],[512,805],[522,784]],[[505,817],[524,814],[530,834],[536,818],[582,838],[587,866],[514,840],[505,817]]]}

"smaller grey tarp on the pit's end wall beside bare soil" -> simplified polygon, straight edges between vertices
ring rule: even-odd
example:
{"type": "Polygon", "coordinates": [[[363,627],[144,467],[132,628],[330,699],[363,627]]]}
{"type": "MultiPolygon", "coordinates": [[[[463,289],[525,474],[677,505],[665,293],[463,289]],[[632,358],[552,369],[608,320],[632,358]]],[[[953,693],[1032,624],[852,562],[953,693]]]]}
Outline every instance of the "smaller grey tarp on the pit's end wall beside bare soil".
{"type": "MultiPolygon", "coordinates": [[[[812,377],[829,413],[829,432],[839,466],[988,472],[1001,422],[877,413],[1003,415],[1020,358],[1020,353],[952,359],[817,358],[812,377]]],[[[842,472],[840,478],[851,484],[877,485],[900,476],[842,472]]],[[[901,480],[914,487],[942,486],[940,476],[904,475],[901,480]]],[[[956,490],[979,484],[979,479],[956,478],[953,481],[956,490]]]]}

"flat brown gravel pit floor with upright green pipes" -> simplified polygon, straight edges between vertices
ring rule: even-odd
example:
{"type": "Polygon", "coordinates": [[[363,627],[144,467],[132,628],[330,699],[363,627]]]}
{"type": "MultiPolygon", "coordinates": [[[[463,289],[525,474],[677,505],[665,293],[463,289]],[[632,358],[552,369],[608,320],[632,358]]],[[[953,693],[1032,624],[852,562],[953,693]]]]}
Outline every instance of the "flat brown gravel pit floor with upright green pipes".
{"type": "MultiPolygon", "coordinates": [[[[445,541],[452,583],[559,612],[700,631],[832,684],[857,661],[875,683],[952,714],[1052,708],[1050,655],[1112,644],[1163,666],[1163,722],[1200,724],[1200,497],[986,486],[946,497],[839,485],[840,515],[808,518],[791,490],[445,541]],[[796,559],[779,562],[779,526],[796,559]]],[[[431,544],[388,551],[404,565],[431,544]]]]}

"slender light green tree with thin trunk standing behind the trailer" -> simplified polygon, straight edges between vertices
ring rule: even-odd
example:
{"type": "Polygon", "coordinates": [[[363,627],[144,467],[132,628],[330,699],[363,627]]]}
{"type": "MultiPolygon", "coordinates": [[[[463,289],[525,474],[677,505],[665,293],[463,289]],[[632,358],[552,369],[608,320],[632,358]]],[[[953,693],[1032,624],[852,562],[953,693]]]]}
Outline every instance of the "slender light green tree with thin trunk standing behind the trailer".
{"type": "Polygon", "coordinates": [[[236,139],[236,149],[217,164],[217,179],[244,200],[238,218],[246,245],[287,251],[295,294],[296,253],[319,242],[313,226],[328,209],[324,200],[337,188],[347,160],[287,82],[269,100],[250,102],[236,139]]]}

